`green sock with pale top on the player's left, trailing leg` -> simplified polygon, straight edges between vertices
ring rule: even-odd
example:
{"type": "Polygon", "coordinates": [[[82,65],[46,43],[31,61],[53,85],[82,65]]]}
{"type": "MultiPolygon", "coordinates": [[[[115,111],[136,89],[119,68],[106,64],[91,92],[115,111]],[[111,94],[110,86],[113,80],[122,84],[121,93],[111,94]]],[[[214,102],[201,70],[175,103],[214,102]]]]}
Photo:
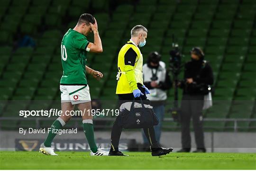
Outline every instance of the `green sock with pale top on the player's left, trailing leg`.
{"type": "Polygon", "coordinates": [[[53,142],[54,137],[56,136],[56,133],[52,131],[52,129],[62,129],[65,125],[65,121],[61,118],[57,118],[54,123],[51,126],[51,131],[49,132],[48,136],[46,137],[46,140],[44,142],[44,145],[46,147],[51,147],[51,144],[53,142]]]}

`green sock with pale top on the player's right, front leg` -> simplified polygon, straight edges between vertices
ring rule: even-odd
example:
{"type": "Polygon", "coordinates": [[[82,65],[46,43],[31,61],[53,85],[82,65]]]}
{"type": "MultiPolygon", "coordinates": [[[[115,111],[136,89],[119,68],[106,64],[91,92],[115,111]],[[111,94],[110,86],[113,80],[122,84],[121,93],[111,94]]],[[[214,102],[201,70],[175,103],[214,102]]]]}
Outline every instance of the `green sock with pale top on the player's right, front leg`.
{"type": "Polygon", "coordinates": [[[83,125],[83,132],[84,132],[85,137],[89,143],[91,151],[93,153],[96,153],[98,150],[98,147],[97,147],[97,145],[95,143],[95,139],[94,139],[92,120],[82,120],[82,125],[83,125]]]}

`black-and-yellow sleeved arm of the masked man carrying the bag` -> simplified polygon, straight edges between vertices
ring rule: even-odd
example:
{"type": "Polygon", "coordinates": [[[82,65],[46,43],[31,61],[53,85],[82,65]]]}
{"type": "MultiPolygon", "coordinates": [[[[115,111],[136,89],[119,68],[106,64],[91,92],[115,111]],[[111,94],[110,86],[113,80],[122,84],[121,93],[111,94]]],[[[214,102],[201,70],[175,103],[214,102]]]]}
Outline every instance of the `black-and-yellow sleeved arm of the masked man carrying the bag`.
{"type": "Polygon", "coordinates": [[[129,85],[132,87],[132,91],[138,89],[134,72],[136,58],[137,53],[132,48],[128,49],[124,56],[124,72],[129,85]]]}

